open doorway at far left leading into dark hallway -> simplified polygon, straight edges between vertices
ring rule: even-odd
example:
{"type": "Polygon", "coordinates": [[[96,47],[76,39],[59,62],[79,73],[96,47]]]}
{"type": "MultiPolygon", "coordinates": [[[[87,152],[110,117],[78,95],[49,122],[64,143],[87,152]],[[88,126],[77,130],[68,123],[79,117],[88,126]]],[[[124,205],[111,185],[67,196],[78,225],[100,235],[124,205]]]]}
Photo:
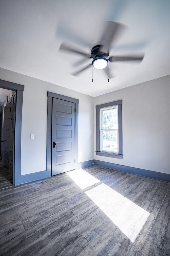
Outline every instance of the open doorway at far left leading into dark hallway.
{"type": "Polygon", "coordinates": [[[0,88],[0,189],[13,186],[16,92],[0,88]]]}

